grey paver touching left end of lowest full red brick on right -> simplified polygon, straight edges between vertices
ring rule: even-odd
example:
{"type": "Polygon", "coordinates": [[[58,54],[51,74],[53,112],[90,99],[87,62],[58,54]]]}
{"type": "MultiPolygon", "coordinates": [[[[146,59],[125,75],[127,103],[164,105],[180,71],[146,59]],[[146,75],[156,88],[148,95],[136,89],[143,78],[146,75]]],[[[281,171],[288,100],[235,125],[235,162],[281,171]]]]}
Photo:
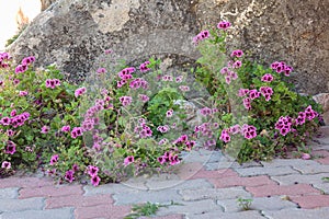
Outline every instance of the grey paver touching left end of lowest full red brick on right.
{"type": "Polygon", "coordinates": [[[184,200],[229,199],[240,196],[251,197],[242,187],[182,189],[179,193],[184,200]]]}

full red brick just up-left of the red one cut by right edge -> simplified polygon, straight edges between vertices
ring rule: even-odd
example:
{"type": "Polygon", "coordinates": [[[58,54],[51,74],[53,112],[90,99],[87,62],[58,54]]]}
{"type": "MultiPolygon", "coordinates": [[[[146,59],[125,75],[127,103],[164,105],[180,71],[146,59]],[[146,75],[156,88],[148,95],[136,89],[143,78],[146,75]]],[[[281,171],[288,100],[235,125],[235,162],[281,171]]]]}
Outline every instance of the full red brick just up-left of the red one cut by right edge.
{"type": "Polygon", "coordinates": [[[256,197],[268,197],[277,195],[305,195],[320,194],[320,191],[307,184],[297,185],[262,185],[254,187],[246,187],[256,197]]]}

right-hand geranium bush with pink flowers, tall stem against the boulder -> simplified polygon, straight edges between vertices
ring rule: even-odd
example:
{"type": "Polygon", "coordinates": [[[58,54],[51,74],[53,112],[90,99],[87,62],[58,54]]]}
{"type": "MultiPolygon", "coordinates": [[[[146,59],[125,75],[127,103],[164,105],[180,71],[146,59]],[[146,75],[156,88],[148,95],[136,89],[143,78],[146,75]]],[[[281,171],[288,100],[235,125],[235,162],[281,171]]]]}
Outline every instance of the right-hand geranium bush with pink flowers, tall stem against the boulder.
{"type": "Polygon", "coordinates": [[[263,67],[240,49],[228,53],[229,27],[229,22],[220,22],[194,37],[203,55],[196,79],[220,111],[217,147],[239,162],[309,152],[305,143],[319,126],[320,106],[294,91],[288,81],[293,68],[284,61],[263,67]]]}

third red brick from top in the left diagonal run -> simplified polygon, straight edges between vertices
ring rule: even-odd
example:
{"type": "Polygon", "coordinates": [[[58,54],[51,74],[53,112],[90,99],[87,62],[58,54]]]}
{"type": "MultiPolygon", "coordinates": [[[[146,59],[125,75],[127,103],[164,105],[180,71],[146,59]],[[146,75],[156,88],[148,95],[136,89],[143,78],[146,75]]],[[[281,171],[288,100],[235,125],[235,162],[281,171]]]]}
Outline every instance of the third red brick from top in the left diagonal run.
{"type": "Polygon", "coordinates": [[[111,205],[113,199],[111,195],[82,196],[70,195],[52,197],[46,200],[46,208],[61,208],[61,207],[87,207],[97,205],[111,205]]]}

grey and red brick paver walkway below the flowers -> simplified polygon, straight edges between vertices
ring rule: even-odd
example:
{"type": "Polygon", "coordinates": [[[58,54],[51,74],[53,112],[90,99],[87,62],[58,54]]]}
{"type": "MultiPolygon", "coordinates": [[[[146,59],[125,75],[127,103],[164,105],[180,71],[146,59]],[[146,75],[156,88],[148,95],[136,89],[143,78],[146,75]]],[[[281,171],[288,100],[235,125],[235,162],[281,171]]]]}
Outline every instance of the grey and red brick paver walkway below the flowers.
{"type": "Polygon", "coordinates": [[[171,174],[122,184],[54,185],[46,177],[0,180],[1,219],[122,219],[133,204],[160,208],[157,219],[329,218],[329,126],[311,142],[313,160],[275,159],[239,165],[218,151],[193,151],[171,174]],[[251,198],[250,210],[237,199],[251,198]]]}

